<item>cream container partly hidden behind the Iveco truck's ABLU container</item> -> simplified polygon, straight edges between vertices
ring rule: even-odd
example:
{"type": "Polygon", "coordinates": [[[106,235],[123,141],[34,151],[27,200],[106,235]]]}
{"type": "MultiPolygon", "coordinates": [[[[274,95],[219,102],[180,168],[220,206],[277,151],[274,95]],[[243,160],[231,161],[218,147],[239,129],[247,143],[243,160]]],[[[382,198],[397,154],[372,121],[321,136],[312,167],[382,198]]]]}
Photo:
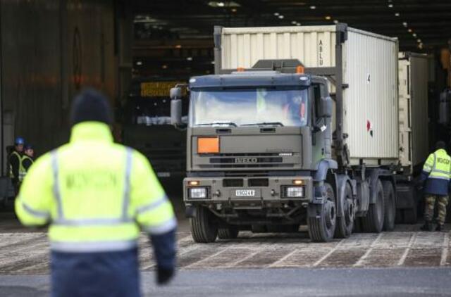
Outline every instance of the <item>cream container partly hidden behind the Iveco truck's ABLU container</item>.
{"type": "Polygon", "coordinates": [[[400,163],[413,169],[429,153],[428,56],[399,54],[400,163]]]}

